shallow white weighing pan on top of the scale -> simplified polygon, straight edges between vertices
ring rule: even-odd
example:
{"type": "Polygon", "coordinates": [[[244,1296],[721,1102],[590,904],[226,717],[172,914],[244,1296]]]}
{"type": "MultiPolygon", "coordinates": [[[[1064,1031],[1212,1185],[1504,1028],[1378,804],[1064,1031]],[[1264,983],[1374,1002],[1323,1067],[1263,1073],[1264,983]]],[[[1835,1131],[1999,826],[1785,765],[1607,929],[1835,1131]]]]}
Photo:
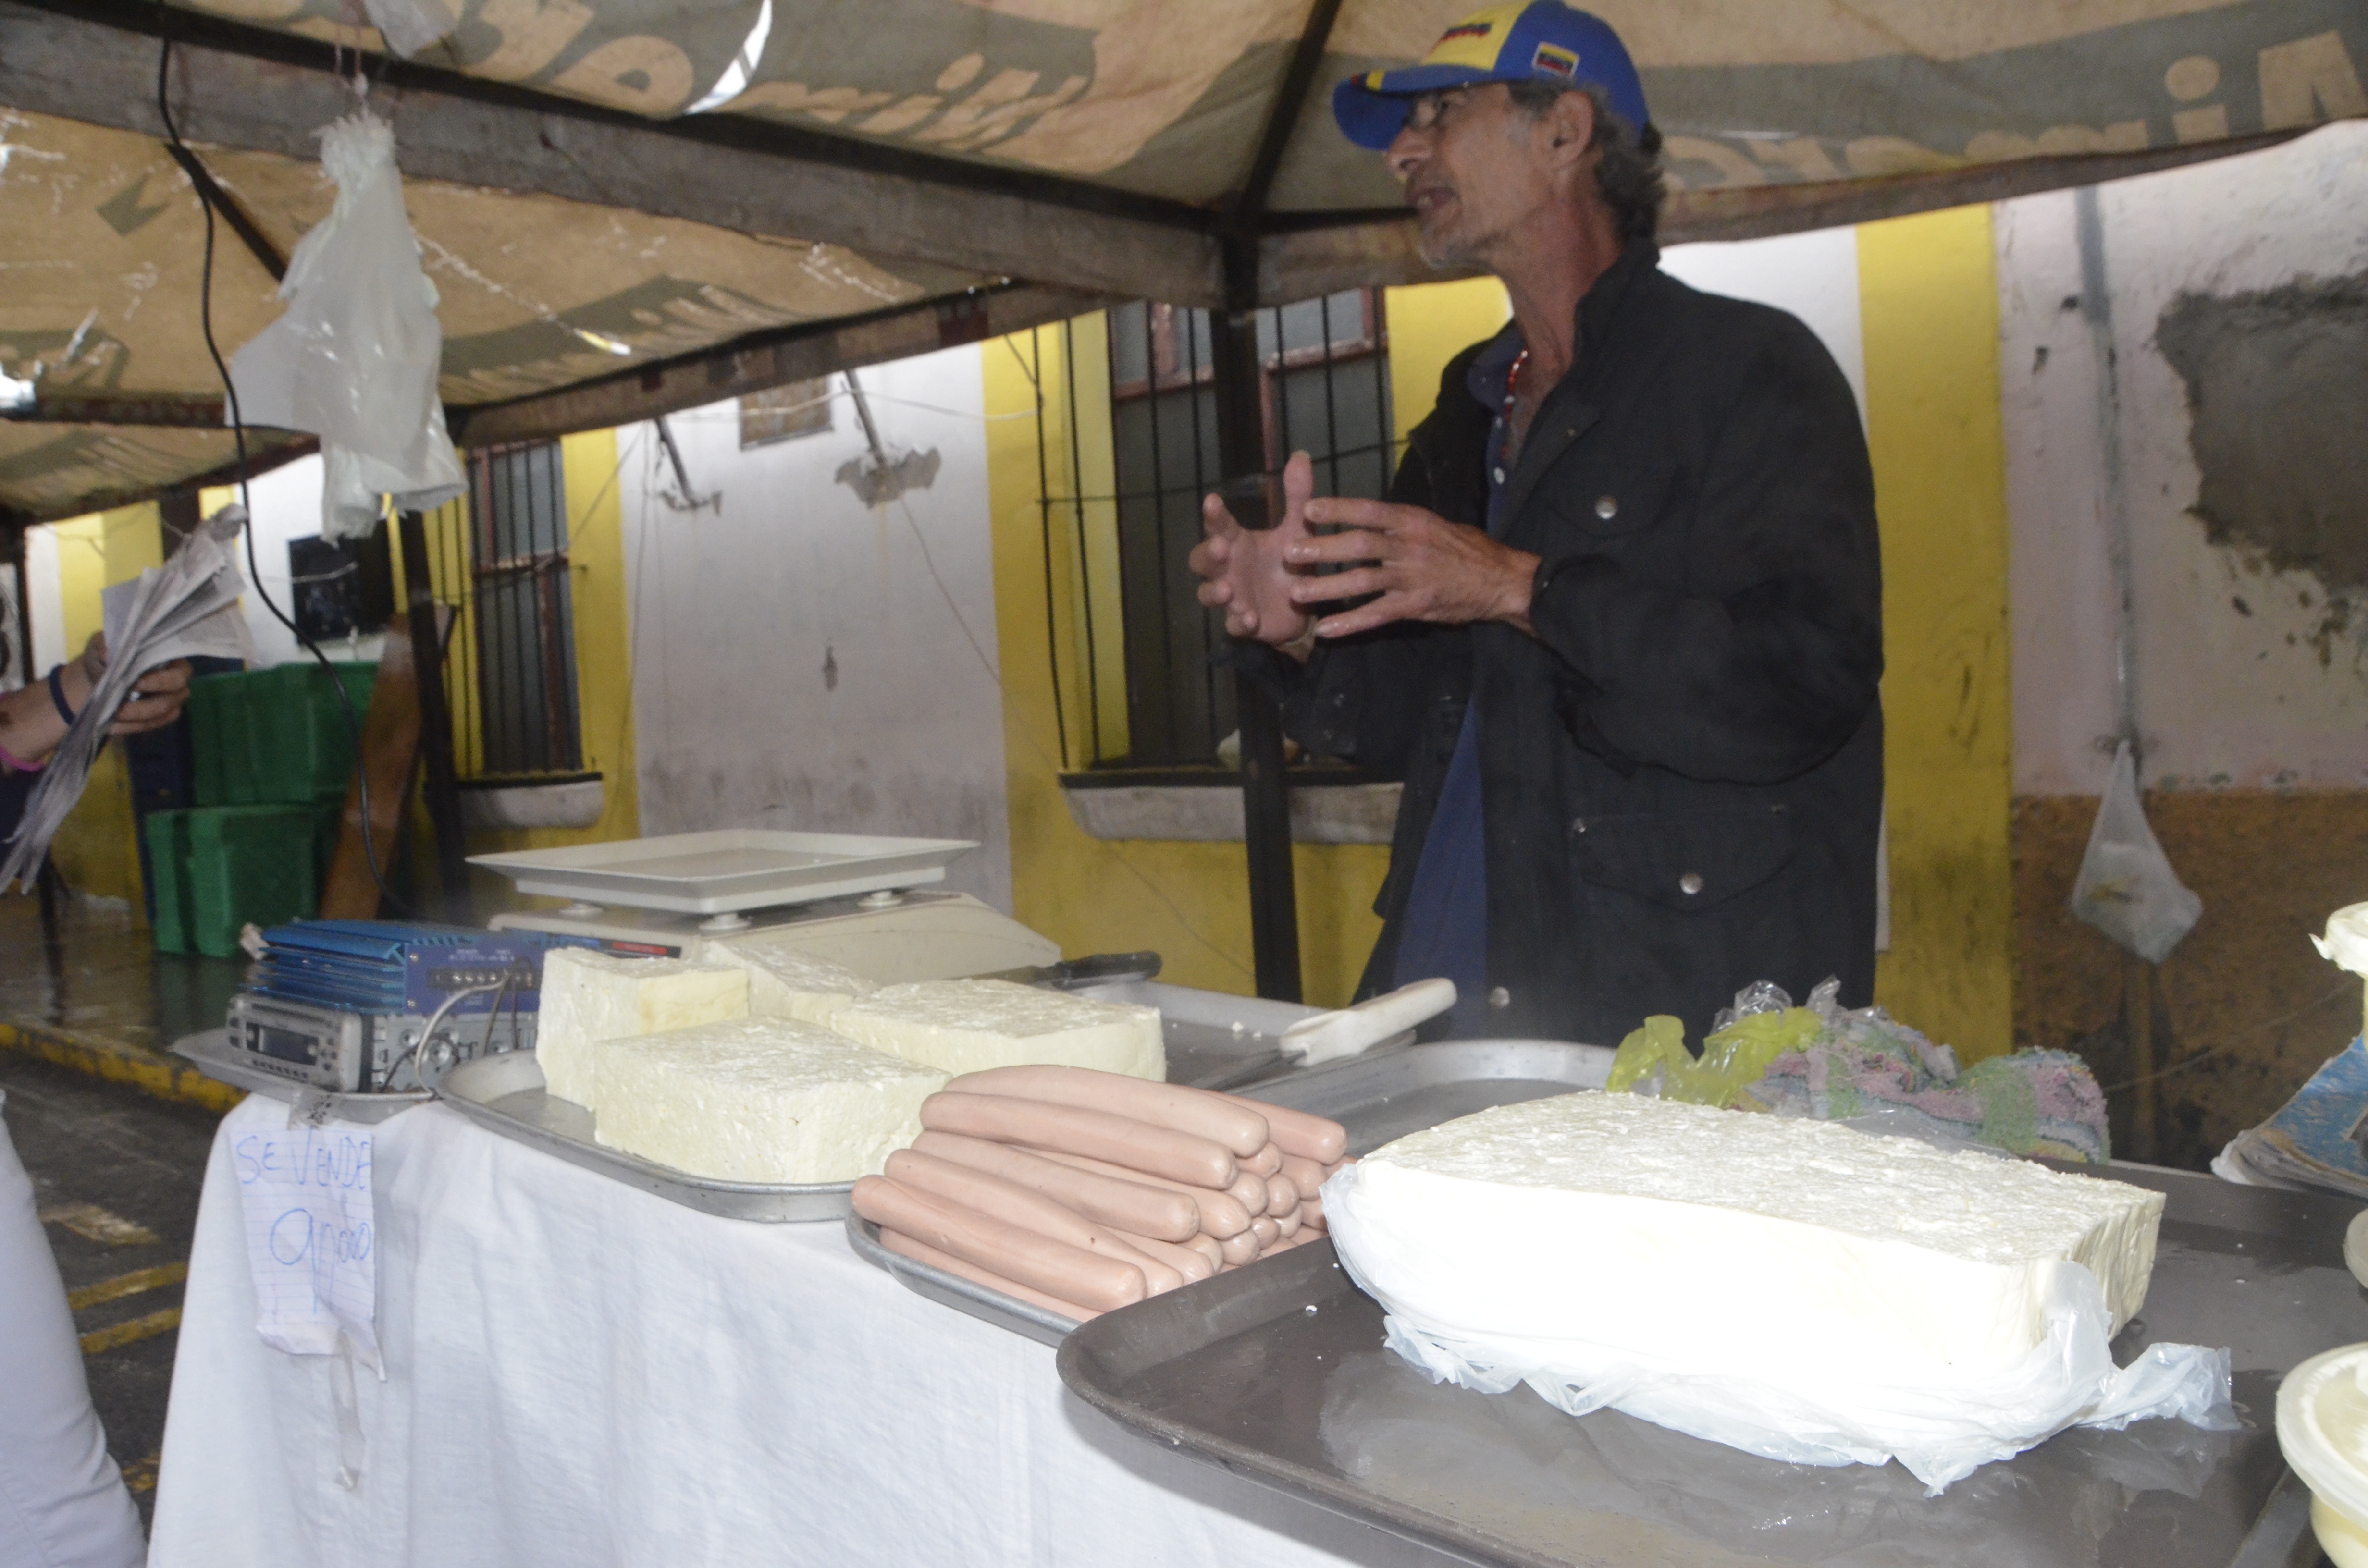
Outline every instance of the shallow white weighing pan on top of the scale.
{"type": "Polygon", "coordinates": [[[976,848],[969,838],[734,827],[564,850],[471,855],[469,865],[514,879],[521,893],[675,914],[736,914],[945,881],[945,867],[976,848]]]}

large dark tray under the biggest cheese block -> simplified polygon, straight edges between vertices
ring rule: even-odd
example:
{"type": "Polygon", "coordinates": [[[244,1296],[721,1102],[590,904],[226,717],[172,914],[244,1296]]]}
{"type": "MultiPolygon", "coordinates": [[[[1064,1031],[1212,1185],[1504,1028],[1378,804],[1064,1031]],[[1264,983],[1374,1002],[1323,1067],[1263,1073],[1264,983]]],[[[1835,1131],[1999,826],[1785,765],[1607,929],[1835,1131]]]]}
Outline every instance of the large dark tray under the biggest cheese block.
{"type": "Polygon", "coordinates": [[[1776,1464],[1613,1409],[1572,1421],[1525,1388],[1430,1383],[1381,1348],[1381,1307],[1328,1241],[1096,1317],[1061,1343],[1058,1369],[1153,1442],[1471,1563],[2318,1561],[2278,1457],[2276,1388],[2304,1357],[2368,1338],[2368,1296],[2342,1267],[2361,1206],[2145,1165],[2110,1175],[2167,1196],[2145,1312],[2115,1360],[2155,1341],[2228,1345],[2242,1431],[2074,1428],[1928,1499],[1897,1464],[1776,1464]]]}

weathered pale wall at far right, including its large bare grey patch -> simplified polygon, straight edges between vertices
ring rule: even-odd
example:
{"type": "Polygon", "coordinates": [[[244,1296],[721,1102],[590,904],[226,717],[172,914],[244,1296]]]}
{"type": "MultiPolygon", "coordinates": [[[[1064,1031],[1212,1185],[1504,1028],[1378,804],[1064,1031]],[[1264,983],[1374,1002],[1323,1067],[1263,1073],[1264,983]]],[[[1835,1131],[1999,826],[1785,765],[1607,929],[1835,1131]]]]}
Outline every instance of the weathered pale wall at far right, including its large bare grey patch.
{"type": "Polygon", "coordinates": [[[2015,791],[2103,789],[2117,507],[2145,784],[2363,789],[2368,123],[2096,199],[2105,355],[2077,197],[1999,204],[2015,791]]]}

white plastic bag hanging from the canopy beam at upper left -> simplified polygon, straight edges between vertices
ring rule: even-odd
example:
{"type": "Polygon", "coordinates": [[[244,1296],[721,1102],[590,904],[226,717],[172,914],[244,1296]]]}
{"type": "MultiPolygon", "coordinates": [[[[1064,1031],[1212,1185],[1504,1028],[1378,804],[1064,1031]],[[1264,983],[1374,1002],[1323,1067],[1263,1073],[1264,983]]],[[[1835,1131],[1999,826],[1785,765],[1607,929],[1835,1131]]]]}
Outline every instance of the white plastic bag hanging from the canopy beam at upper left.
{"type": "Polygon", "coordinates": [[[329,216],[296,242],[279,298],[287,313],[230,360],[239,417],[320,436],[320,531],[367,535],[381,495],[431,512],[462,493],[436,379],[443,327],[436,284],[403,211],[395,133],[369,109],[320,133],[336,180],[329,216]]]}

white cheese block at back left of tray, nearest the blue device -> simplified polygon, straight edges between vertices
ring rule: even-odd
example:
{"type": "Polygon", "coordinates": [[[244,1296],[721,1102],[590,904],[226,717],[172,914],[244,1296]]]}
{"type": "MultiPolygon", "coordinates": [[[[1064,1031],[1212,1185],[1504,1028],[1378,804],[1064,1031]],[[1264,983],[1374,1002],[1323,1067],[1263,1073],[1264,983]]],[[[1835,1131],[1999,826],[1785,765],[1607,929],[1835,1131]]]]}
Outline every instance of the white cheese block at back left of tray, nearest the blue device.
{"type": "Polygon", "coordinates": [[[535,1061],[542,1087],[592,1106],[592,1047],[748,1016],[748,971],[691,959],[628,959],[590,947],[542,955],[535,1061]]]}

